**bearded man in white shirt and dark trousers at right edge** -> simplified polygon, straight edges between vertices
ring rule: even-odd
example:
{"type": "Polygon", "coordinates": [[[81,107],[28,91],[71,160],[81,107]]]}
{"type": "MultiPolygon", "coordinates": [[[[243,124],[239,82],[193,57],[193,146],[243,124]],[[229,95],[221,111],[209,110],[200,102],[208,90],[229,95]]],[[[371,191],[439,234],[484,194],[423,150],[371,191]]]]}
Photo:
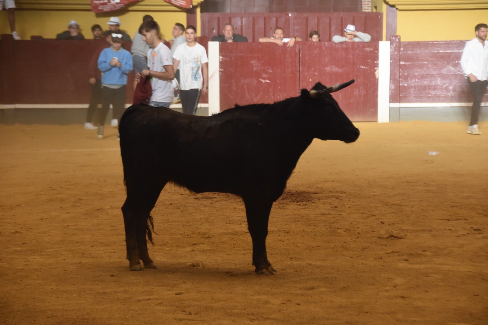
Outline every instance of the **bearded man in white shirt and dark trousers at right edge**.
{"type": "Polygon", "coordinates": [[[473,96],[473,107],[471,109],[471,120],[469,121],[468,134],[478,135],[478,116],[480,114],[481,102],[487,90],[488,75],[488,42],[487,24],[477,24],[474,27],[476,37],[466,42],[461,56],[461,67],[468,78],[469,90],[473,96]]]}

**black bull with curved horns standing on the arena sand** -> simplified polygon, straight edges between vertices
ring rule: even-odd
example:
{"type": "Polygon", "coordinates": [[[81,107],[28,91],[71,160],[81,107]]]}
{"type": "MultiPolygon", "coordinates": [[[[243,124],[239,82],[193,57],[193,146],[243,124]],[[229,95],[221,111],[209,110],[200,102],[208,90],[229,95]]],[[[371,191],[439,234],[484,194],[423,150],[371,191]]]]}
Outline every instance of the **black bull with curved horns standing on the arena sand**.
{"type": "Polygon", "coordinates": [[[156,268],[147,252],[150,215],[166,183],[239,195],[245,205],[256,273],[276,269],[266,255],[268,219],[300,156],[314,138],[354,142],[359,130],[330,95],[354,80],[274,104],[237,106],[201,117],[133,105],[120,122],[127,198],[122,206],[131,270],[156,268]]]}

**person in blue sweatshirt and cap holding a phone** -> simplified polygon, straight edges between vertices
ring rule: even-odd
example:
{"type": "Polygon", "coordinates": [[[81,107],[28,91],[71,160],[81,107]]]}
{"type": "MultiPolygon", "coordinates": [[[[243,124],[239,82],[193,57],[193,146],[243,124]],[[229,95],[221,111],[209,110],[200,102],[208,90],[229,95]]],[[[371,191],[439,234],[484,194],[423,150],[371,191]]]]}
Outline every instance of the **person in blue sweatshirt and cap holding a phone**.
{"type": "Polygon", "coordinates": [[[108,35],[112,46],[102,50],[98,57],[98,68],[102,71],[102,112],[97,137],[103,139],[103,127],[108,109],[112,104],[114,118],[120,121],[125,106],[127,75],[132,71],[132,55],[122,48],[122,35],[108,35]]]}

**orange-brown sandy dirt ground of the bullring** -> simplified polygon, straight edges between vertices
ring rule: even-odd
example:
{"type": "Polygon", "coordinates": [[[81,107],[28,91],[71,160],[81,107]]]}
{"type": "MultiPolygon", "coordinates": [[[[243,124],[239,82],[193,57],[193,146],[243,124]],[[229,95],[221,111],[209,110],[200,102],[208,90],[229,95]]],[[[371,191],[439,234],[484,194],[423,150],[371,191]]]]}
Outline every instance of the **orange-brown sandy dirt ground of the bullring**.
{"type": "Polygon", "coordinates": [[[355,143],[315,140],[274,204],[273,276],[240,198],[173,185],[159,269],[129,271],[116,129],[0,125],[0,323],[487,324],[488,128],[355,124],[355,143]]]}

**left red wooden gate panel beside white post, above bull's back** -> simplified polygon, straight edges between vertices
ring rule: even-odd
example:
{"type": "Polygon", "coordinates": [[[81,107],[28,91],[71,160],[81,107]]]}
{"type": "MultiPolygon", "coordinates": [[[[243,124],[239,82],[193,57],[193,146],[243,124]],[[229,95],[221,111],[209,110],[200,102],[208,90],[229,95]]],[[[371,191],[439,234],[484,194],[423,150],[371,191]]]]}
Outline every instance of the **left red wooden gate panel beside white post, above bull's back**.
{"type": "Polygon", "coordinates": [[[221,110],[299,94],[299,46],[221,43],[221,110]],[[279,68],[278,68],[279,67],[279,68]]]}

